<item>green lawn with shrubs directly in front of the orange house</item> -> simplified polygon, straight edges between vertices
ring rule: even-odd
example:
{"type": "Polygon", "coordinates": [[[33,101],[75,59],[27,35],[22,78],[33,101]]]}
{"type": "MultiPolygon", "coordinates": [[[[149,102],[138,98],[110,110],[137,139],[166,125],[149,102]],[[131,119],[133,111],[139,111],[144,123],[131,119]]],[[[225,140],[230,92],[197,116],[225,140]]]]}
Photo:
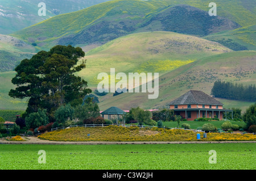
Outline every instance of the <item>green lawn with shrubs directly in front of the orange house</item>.
{"type": "MultiPolygon", "coordinates": [[[[202,127],[205,123],[213,124],[216,128],[221,128],[221,124],[225,121],[180,121],[180,127],[183,123],[190,124],[191,129],[196,129],[198,127],[202,127]]],[[[230,121],[232,124],[237,124],[238,126],[243,127],[245,122],[243,121],[230,121]]],[[[177,122],[175,121],[167,121],[163,122],[163,125],[170,128],[177,128],[177,122]]]]}

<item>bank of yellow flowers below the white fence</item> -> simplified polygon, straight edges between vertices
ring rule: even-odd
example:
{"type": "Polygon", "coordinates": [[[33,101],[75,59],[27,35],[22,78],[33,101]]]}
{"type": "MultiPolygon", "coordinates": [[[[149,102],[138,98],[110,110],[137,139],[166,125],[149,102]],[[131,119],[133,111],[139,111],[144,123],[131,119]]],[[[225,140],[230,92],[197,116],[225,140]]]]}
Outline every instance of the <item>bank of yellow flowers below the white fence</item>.
{"type": "Polygon", "coordinates": [[[48,132],[38,136],[50,141],[256,141],[253,134],[208,133],[197,140],[197,133],[182,129],[109,127],[76,127],[48,132]],[[88,136],[89,135],[89,136],[88,136]]]}

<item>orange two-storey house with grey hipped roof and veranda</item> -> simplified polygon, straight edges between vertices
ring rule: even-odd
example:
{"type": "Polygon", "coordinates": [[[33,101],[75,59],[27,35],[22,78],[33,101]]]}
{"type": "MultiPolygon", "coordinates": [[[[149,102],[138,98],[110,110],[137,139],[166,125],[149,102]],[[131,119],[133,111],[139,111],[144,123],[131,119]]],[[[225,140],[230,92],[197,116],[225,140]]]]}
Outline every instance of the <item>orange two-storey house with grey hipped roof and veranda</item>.
{"type": "Polygon", "coordinates": [[[224,109],[224,105],[221,102],[202,91],[188,91],[173,100],[169,105],[170,109],[174,110],[175,115],[180,115],[182,119],[187,119],[188,121],[199,117],[217,117],[221,120],[226,115],[226,112],[232,112],[233,118],[232,110],[224,109]]]}

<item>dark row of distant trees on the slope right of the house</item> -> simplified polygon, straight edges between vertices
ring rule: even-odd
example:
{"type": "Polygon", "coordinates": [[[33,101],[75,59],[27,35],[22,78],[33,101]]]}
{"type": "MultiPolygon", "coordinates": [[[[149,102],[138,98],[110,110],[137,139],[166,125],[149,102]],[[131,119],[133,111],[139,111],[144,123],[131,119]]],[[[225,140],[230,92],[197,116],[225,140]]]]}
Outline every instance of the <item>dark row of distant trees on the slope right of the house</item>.
{"type": "Polygon", "coordinates": [[[256,101],[255,85],[244,86],[238,83],[216,81],[211,94],[217,98],[256,101]]]}

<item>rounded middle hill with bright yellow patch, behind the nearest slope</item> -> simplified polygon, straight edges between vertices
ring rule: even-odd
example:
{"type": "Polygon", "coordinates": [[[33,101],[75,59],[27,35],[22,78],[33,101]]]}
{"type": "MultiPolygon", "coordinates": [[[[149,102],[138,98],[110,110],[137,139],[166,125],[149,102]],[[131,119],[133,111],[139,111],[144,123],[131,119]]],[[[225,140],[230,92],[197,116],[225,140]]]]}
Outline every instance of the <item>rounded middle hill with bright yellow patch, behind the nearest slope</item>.
{"type": "Polygon", "coordinates": [[[86,52],[86,69],[78,75],[97,87],[97,75],[110,68],[123,73],[163,74],[199,58],[232,50],[213,41],[174,32],[143,32],[119,37],[86,52]]]}

